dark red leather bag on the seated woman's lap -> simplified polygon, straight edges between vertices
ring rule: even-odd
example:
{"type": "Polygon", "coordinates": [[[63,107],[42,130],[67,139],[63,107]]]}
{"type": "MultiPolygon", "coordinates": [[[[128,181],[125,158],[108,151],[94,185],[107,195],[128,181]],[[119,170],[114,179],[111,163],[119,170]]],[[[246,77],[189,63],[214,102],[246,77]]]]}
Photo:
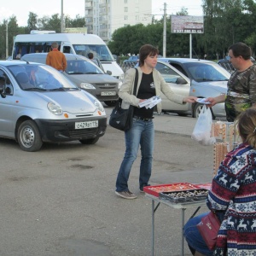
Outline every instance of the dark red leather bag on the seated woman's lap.
{"type": "Polygon", "coordinates": [[[213,250],[218,236],[218,230],[220,228],[220,221],[218,216],[214,212],[209,212],[206,216],[201,218],[201,222],[196,225],[200,231],[203,240],[206,242],[207,247],[213,250]]]}

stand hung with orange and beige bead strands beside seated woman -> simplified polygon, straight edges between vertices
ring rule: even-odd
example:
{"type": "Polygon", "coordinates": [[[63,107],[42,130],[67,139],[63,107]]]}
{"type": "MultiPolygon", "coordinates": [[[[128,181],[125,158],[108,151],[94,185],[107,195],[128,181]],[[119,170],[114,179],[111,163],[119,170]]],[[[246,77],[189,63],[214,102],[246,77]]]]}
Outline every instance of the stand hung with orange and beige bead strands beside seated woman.
{"type": "Polygon", "coordinates": [[[241,143],[241,137],[234,123],[222,121],[212,123],[212,137],[220,141],[213,146],[213,176],[215,176],[221,161],[228,152],[241,143]]]}

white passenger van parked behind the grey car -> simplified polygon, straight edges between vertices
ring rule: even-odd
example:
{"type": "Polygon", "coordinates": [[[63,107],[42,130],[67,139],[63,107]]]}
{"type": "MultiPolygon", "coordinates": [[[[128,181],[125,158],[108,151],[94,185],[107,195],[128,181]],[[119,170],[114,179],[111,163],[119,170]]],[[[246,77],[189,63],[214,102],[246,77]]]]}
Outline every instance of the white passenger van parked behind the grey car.
{"type": "Polygon", "coordinates": [[[31,34],[20,34],[15,37],[12,58],[13,60],[17,59],[16,56],[19,53],[23,56],[28,53],[49,52],[53,42],[59,44],[59,50],[63,53],[84,55],[85,57],[88,57],[90,52],[93,53],[94,57],[101,61],[105,72],[111,71],[113,77],[123,79],[124,72],[114,61],[107,44],[102,38],[93,34],[39,33],[39,31],[38,33],[33,31],[31,34]]]}

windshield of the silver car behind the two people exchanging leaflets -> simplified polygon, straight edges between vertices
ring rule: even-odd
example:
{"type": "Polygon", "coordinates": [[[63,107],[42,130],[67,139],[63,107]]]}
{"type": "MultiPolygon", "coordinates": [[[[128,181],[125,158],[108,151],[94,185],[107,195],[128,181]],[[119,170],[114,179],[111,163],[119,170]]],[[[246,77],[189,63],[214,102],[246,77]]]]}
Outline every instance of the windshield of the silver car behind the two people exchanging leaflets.
{"type": "Polygon", "coordinates": [[[185,63],[192,79],[196,82],[227,81],[230,73],[215,63],[185,63]]]}

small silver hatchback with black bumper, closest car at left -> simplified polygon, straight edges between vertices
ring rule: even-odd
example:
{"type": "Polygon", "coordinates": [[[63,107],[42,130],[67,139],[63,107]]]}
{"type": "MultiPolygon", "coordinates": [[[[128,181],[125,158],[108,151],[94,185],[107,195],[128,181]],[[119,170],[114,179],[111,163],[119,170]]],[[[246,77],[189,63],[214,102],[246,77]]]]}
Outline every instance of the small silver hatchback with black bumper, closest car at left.
{"type": "Polygon", "coordinates": [[[0,61],[0,109],[0,137],[29,152],[44,142],[93,144],[107,128],[102,103],[44,64],[0,61]]]}

